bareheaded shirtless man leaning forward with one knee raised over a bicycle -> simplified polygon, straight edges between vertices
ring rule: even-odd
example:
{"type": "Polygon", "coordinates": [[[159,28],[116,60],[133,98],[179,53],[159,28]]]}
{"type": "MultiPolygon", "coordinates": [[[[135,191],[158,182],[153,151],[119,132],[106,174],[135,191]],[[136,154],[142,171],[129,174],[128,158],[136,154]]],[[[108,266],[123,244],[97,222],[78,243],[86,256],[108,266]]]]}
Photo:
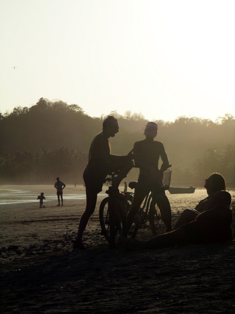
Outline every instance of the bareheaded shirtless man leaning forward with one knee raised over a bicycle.
{"type": "Polygon", "coordinates": [[[106,176],[112,170],[118,170],[112,187],[109,187],[108,194],[119,194],[118,186],[127,176],[133,167],[132,150],[125,156],[111,155],[108,138],[114,137],[118,133],[118,119],[108,116],[103,122],[103,130],[92,140],[89,149],[88,164],[83,173],[86,185],[86,209],[82,214],[78,233],[73,244],[73,249],[86,250],[82,243],[82,234],[86,225],[94,213],[97,202],[97,194],[102,191],[102,186],[106,176]]]}

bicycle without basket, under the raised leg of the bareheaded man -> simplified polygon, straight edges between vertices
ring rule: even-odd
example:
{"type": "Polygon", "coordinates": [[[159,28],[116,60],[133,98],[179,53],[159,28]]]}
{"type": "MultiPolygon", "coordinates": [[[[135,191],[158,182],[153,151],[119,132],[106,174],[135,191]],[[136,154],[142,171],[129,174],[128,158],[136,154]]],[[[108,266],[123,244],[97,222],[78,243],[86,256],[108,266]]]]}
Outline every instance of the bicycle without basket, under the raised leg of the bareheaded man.
{"type": "MultiPolygon", "coordinates": [[[[117,173],[113,171],[104,182],[111,186],[116,179],[117,173]]],[[[122,226],[126,219],[126,214],[133,200],[133,192],[121,192],[120,195],[109,195],[104,198],[99,208],[99,220],[101,234],[105,236],[110,244],[110,248],[115,247],[115,238],[122,233],[122,226]]]]}

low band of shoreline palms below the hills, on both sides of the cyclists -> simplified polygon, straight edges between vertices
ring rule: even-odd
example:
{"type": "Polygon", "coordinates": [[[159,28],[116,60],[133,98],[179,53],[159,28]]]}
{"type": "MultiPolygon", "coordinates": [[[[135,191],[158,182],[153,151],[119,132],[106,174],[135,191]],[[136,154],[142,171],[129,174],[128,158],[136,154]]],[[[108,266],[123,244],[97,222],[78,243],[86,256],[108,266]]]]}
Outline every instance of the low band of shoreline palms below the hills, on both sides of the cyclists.
{"type": "MultiPolygon", "coordinates": [[[[172,167],[172,182],[181,185],[201,185],[212,172],[220,172],[228,184],[235,184],[235,148],[226,145],[221,151],[207,149],[192,167],[172,167]]],[[[53,151],[40,149],[39,153],[16,152],[0,158],[1,180],[11,182],[50,182],[57,176],[66,182],[82,183],[82,174],[87,164],[87,154],[76,149],[60,148],[53,151]]],[[[137,180],[138,170],[132,169],[128,181],[137,180]]],[[[0,181],[0,183],[2,183],[0,181]]]]}

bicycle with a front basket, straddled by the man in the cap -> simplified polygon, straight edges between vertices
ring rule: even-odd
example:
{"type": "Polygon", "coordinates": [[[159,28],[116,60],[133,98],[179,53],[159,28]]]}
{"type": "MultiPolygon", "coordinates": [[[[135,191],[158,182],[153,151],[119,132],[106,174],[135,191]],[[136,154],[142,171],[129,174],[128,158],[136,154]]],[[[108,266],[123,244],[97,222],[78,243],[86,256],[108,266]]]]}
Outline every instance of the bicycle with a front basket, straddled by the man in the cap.
{"type": "MultiPolygon", "coordinates": [[[[165,190],[170,187],[170,178],[171,170],[167,169],[163,173],[162,181],[154,187],[152,192],[146,195],[143,206],[139,208],[138,213],[135,215],[131,238],[135,238],[138,229],[144,226],[148,219],[153,236],[172,231],[171,208],[165,195],[165,190]]],[[[137,182],[130,182],[128,186],[133,189],[136,184],[137,182]]]]}

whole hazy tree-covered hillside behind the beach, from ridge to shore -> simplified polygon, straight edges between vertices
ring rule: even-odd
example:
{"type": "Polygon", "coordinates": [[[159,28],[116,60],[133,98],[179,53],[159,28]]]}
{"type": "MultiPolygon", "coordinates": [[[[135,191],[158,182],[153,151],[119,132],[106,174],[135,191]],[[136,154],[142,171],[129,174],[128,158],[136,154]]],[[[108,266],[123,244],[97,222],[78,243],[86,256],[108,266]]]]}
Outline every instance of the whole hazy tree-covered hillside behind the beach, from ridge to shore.
{"type": "MultiPolygon", "coordinates": [[[[110,114],[118,118],[120,127],[115,138],[110,138],[112,154],[127,154],[135,141],[144,139],[148,121],[131,111],[123,116],[117,111],[110,114]]],[[[82,182],[91,140],[102,130],[104,118],[90,117],[78,105],[44,98],[30,108],[0,114],[0,180],[51,181],[63,173],[68,181],[82,182]]],[[[159,127],[156,139],[164,143],[173,165],[173,182],[202,184],[217,171],[234,184],[234,116],[226,114],[216,122],[186,116],[155,122],[159,127]]],[[[135,170],[129,178],[137,179],[135,170]]]]}

